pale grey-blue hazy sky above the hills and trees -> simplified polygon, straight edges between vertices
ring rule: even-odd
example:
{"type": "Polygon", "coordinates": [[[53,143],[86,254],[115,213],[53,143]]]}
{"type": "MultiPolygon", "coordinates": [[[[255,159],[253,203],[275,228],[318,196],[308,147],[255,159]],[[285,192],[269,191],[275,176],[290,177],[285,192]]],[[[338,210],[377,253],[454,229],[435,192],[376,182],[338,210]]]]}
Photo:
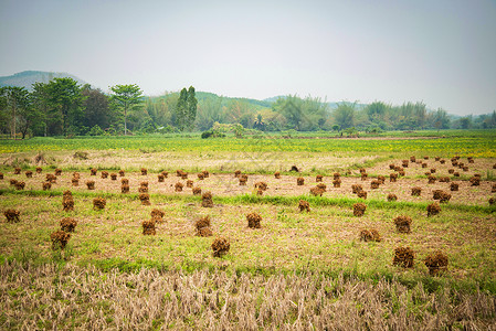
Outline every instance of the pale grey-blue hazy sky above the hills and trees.
{"type": "Polygon", "coordinates": [[[496,0],[0,0],[0,76],[496,109],[496,0]]]}

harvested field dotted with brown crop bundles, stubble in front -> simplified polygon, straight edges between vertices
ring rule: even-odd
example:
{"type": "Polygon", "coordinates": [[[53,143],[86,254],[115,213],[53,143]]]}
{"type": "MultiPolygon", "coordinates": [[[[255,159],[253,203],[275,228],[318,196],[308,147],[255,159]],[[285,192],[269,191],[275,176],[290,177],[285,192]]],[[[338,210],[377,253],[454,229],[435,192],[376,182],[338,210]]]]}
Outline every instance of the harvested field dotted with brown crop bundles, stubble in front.
{"type": "Polygon", "coordinates": [[[3,140],[0,328],[496,330],[495,140],[3,140]]]}

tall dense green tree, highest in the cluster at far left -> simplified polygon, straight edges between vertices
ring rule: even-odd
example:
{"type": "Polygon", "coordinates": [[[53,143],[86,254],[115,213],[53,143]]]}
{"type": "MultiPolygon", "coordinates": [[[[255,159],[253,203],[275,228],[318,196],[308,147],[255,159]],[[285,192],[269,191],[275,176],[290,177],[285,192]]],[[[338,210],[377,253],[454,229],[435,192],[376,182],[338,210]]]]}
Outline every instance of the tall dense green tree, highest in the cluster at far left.
{"type": "Polygon", "coordinates": [[[82,106],[85,98],[77,82],[68,77],[53,78],[46,85],[46,92],[52,110],[62,121],[63,135],[66,136],[70,128],[73,134],[77,134],[78,127],[83,124],[82,106]]]}

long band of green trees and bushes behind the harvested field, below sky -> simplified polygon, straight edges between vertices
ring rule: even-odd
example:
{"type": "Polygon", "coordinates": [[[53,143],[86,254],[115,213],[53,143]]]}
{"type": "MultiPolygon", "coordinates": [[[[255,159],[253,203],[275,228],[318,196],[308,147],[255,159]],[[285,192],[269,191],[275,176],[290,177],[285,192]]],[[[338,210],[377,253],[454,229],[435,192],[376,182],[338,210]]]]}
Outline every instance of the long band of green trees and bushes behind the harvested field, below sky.
{"type": "MultiPolygon", "coordinates": [[[[496,128],[490,115],[454,118],[424,103],[394,106],[339,103],[331,107],[317,97],[288,95],[273,103],[223,98],[184,87],[178,93],[145,97],[136,84],[112,86],[106,94],[73,78],[35,83],[32,90],[0,87],[0,134],[33,136],[101,136],[209,131],[233,128],[260,131],[337,131],[496,128]],[[198,97],[198,98],[197,98],[198,97]]],[[[210,135],[205,135],[208,137],[210,135]]]]}

